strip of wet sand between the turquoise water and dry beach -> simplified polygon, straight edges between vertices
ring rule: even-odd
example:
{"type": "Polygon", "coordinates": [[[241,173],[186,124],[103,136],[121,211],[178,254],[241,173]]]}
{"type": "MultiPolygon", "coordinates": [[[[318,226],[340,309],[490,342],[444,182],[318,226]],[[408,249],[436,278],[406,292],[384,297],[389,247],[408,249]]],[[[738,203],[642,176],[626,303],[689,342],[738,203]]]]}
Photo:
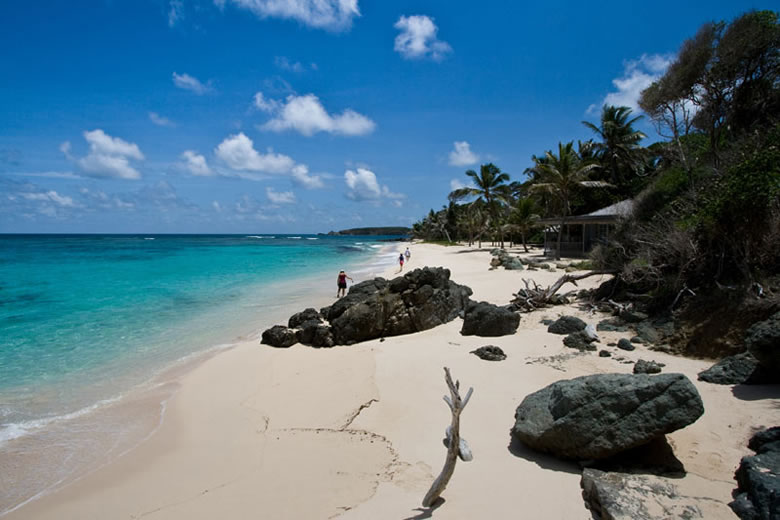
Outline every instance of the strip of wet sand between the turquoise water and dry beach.
{"type": "MultiPolygon", "coordinates": [[[[352,259],[347,265],[361,268],[355,269],[355,272],[365,273],[368,277],[373,272],[372,267],[388,263],[388,261],[382,262],[381,258],[391,247],[395,246],[382,245],[365,257],[352,259]]],[[[300,306],[304,302],[310,303],[315,299],[314,305],[318,308],[332,303],[332,296],[329,296],[329,290],[325,289],[325,286],[335,285],[335,283],[327,284],[324,281],[335,279],[335,275],[331,276],[332,274],[331,269],[323,268],[321,272],[262,285],[262,290],[272,295],[274,302],[280,298],[285,303],[281,306],[277,303],[254,304],[252,308],[255,317],[242,323],[240,330],[236,330],[235,327],[222,330],[219,333],[224,338],[222,342],[166,362],[147,379],[86,408],[31,421],[33,424],[40,422],[40,426],[3,441],[3,456],[0,457],[0,468],[3,469],[0,471],[2,485],[0,487],[7,490],[18,487],[19,478],[37,480],[37,473],[34,471],[36,468],[45,469],[51,464],[72,467],[61,475],[57,474],[55,481],[49,482],[43,489],[36,490],[32,495],[26,489],[20,490],[23,498],[20,502],[13,503],[14,497],[20,495],[12,495],[9,491],[7,498],[12,502],[3,504],[0,508],[0,517],[5,517],[51,493],[66,488],[73,482],[88,477],[146,442],[163,424],[167,403],[178,391],[181,378],[226,351],[244,343],[259,343],[262,330],[274,323],[286,323],[289,315],[303,309],[300,306]],[[63,439],[58,435],[66,429],[75,432],[70,435],[71,441],[68,445],[77,453],[69,453],[66,457],[69,460],[60,461],[58,464],[52,460],[56,461],[59,454],[50,452],[53,450],[49,448],[53,444],[62,442],[63,439]],[[78,432],[89,432],[86,433],[89,440],[84,439],[82,442],[83,436],[78,432]],[[84,445],[82,449],[73,448],[74,444],[79,443],[84,445]],[[77,457],[75,464],[70,460],[74,455],[77,457]],[[26,474],[29,474],[29,477],[22,477],[20,471],[28,472],[26,474]],[[5,507],[7,509],[4,509],[5,507]]],[[[356,281],[361,280],[356,277],[356,281]]]]}

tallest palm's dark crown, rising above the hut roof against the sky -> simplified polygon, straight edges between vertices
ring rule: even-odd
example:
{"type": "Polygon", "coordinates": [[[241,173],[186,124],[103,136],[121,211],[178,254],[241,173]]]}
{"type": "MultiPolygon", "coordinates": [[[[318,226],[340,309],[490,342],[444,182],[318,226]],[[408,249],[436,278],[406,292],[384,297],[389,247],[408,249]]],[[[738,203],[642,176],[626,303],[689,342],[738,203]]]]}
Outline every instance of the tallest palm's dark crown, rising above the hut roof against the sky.
{"type": "Polygon", "coordinates": [[[617,186],[623,185],[624,171],[641,172],[643,164],[644,148],[639,145],[639,141],[647,136],[633,128],[633,124],[643,116],[629,119],[630,116],[629,107],[604,105],[601,126],[582,122],[601,139],[601,142],[593,142],[591,148],[594,156],[609,171],[612,183],[617,186]]]}

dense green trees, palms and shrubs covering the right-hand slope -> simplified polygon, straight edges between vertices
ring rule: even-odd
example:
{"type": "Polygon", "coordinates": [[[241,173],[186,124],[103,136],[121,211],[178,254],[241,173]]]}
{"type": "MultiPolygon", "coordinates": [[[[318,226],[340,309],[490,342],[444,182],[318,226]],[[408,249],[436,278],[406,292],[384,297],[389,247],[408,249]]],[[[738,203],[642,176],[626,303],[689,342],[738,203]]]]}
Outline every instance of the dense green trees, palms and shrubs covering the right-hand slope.
{"type": "Polygon", "coordinates": [[[639,105],[665,141],[643,147],[644,116],[604,106],[597,123],[583,122],[592,140],[532,156],[523,181],[493,164],[466,172],[472,185],[413,234],[503,247],[538,235],[539,217],[565,222],[631,198],[633,217],[592,266],[617,270],[659,306],[713,287],[760,290],[780,266],[778,13],[704,24],[639,105]]]}

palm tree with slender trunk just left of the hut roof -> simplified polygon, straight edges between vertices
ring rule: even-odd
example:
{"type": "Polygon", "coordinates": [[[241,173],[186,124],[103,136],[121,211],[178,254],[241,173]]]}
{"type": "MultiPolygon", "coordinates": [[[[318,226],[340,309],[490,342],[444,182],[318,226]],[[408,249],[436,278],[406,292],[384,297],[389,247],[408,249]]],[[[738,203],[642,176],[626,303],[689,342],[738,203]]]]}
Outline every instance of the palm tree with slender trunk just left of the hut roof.
{"type": "Polygon", "coordinates": [[[550,193],[560,203],[561,224],[558,229],[558,247],[555,250],[556,260],[561,258],[561,236],[566,218],[571,214],[571,200],[574,193],[581,187],[609,186],[606,182],[587,180],[588,174],[596,168],[599,168],[597,164],[580,160],[571,141],[567,144],[559,142],[557,156],[548,151],[544,161],[537,160],[536,166],[533,167],[539,181],[532,188],[550,193]]]}

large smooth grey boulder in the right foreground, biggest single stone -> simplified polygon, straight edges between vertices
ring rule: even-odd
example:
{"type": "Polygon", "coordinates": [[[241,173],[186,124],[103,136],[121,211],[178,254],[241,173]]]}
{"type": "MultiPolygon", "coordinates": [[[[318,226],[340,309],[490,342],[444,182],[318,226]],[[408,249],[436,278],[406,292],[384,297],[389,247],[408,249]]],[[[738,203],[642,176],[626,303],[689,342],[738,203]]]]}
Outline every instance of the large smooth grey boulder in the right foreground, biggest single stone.
{"type": "Polygon", "coordinates": [[[704,405],[682,374],[597,374],[558,381],[526,396],[514,436],[570,459],[600,459],[696,421],[704,405]]]}

